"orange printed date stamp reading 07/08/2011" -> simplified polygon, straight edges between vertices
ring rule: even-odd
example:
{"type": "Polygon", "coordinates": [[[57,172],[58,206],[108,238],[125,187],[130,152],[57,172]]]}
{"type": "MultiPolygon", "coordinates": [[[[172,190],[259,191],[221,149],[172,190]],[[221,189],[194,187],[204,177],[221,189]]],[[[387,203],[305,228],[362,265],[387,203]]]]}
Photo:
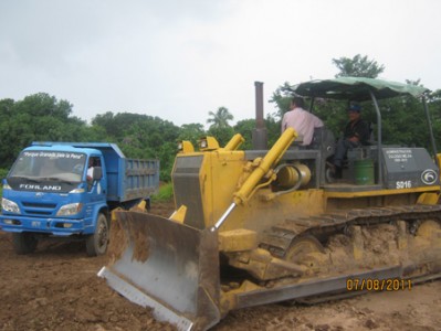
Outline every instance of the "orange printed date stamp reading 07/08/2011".
{"type": "Polygon", "coordinates": [[[399,279],[399,278],[387,278],[387,279],[375,279],[375,278],[348,278],[346,279],[347,291],[399,291],[399,290],[411,290],[412,280],[399,279]]]}

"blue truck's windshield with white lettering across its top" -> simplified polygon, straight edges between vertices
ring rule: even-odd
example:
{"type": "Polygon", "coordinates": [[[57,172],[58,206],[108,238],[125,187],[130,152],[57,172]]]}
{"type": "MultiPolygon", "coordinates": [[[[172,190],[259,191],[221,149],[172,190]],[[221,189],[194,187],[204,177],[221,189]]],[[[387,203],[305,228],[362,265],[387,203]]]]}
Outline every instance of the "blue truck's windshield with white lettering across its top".
{"type": "Polygon", "coordinates": [[[34,182],[80,182],[84,172],[86,156],[65,151],[23,151],[9,174],[34,182]]]}

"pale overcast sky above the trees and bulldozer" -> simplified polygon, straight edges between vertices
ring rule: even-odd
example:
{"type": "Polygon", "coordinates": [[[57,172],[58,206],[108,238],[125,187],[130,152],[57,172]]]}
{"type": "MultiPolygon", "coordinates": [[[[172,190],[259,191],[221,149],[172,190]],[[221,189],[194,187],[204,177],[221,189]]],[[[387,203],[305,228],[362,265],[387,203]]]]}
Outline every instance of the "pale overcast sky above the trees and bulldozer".
{"type": "Polygon", "coordinates": [[[264,111],[285,82],[333,78],[367,55],[380,78],[441,88],[438,0],[0,0],[0,99],[48,93],[106,111],[207,125],[264,111]]]}

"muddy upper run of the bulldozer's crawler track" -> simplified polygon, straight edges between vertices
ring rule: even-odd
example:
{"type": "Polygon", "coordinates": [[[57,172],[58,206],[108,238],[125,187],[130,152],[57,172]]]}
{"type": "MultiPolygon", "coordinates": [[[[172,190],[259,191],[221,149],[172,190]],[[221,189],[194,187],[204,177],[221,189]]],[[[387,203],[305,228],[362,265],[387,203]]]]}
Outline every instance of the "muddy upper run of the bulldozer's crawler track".
{"type": "Polygon", "coordinates": [[[272,226],[263,236],[260,246],[273,256],[283,258],[293,241],[304,235],[312,235],[324,243],[333,234],[347,233],[353,225],[369,226],[396,221],[408,222],[410,233],[416,233],[420,223],[426,220],[441,222],[441,205],[351,209],[318,216],[290,217],[272,226]]]}

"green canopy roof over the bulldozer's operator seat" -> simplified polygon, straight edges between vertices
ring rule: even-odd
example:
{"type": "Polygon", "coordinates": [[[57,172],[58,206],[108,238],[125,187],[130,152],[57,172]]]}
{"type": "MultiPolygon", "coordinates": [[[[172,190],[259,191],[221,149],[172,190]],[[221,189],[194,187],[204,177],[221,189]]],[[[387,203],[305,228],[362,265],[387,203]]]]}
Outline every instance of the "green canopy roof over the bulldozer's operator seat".
{"type": "Polygon", "coordinates": [[[402,84],[390,81],[365,77],[339,77],[325,81],[311,81],[291,87],[295,94],[303,97],[322,97],[330,99],[349,99],[364,102],[371,99],[369,90],[377,99],[410,95],[421,97],[426,87],[402,84]]]}

